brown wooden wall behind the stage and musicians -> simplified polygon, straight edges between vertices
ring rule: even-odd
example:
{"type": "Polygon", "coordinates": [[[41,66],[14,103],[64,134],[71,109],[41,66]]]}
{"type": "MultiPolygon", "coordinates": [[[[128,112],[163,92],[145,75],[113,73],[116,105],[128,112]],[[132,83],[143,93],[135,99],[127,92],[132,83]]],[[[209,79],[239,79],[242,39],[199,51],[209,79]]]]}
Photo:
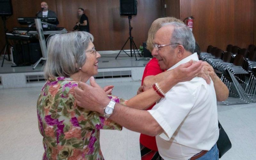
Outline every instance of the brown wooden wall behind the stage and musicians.
{"type": "MultiPolygon", "coordinates": [[[[12,0],[13,15],[7,20],[7,28],[26,27],[17,22],[17,17],[34,17],[40,10],[41,0],[12,0]]],[[[47,1],[49,9],[56,12],[60,22],[58,27],[72,31],[76,22],[78,7],[85,9],[89,18],[90,32],[98,51],[120,50],[129,37],[128,16],[120,16],[119,0],[53,0],[47,1]]],[[[138,0],[137,15],[131,20],[132,36],[137,47],[147,40],[151,23],[161,17],[162,0],[138,0]]],[[[3,29],[0,27],[0,33],[3,29]]],[[[3,36],[0,42],[4,41],[3,36]]],[[[129,49],[126,45],[124,49],[129,49]]]]}

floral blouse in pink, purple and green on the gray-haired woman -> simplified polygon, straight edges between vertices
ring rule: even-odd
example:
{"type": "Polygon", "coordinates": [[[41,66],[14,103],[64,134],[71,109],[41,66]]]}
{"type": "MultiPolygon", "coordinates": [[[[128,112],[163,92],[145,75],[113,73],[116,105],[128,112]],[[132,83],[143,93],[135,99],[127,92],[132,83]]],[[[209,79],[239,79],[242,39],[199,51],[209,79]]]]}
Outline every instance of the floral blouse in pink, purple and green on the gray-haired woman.
{"type": "MultiPolygon", "coordinates": [[[[43,160],[102,160],[100,129],[122,129],[99,113],[76,105],[77,83],[68,77],[56,77],[48,80],[41,90],[37,116],[44,137],[43,160]]],[[[120,102],[117,97],[109,98],[120,102]]]]}

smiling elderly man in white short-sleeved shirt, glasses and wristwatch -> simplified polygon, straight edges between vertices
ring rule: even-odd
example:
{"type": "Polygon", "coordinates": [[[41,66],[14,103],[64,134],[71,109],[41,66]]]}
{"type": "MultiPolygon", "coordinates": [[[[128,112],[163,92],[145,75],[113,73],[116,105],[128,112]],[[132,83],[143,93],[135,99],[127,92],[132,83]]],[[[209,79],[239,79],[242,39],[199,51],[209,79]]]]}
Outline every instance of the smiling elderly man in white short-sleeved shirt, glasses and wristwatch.
{"type": "MultiPolygon", "coordinates": [[[[192,54],[195,38],[184,24],[163,24],[156,32],[154,43],[152,55],[161,68],[175,70],[190,60],[198,60],[197,54],[192,54]]],[[[79,86],[76,88],[77,105],[106,114],[111,101],[107,100],[102,89],[95,82],[92,86],[84,83],[79,83],[79,86]]],[[[218,115],[213,83],[207,84],[203,78],[195,77],[175,84],[166,93],[162,87],[163,84],[153,85],[154,90],[164,98],[151,110],[135,109],[143,108],[141,106],[145,101],[137,103],[137,106],[128,105],[133,108],[114,104],[108,117],[130,130],[156,135],[157,148],[164,160],[219,159],[216,146],[218,115]]]]}

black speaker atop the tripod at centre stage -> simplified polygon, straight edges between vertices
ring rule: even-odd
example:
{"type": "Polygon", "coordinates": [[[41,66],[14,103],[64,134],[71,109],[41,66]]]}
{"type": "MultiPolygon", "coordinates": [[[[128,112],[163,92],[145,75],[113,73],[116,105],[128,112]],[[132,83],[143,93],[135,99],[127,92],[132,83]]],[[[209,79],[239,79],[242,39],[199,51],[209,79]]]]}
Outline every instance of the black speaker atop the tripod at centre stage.
{"type": "Polygon", "coordinates": [[[137,1],[136,0],[120,0],[120,15],[121,16],[137,15],[137,1]]]}

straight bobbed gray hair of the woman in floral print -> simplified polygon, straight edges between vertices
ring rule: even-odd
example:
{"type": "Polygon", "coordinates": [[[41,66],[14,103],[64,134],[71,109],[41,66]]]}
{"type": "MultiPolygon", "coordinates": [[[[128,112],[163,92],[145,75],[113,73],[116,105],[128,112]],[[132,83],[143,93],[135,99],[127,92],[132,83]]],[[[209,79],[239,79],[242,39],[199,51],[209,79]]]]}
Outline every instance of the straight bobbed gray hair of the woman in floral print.
{"type": "Polygon", "coordinates": [[[88,32],[69,32],[52,35],[47,42],[44,78],[69,77],[79,71],[86,60],[85,50],[93,36],[88,32]]]}

